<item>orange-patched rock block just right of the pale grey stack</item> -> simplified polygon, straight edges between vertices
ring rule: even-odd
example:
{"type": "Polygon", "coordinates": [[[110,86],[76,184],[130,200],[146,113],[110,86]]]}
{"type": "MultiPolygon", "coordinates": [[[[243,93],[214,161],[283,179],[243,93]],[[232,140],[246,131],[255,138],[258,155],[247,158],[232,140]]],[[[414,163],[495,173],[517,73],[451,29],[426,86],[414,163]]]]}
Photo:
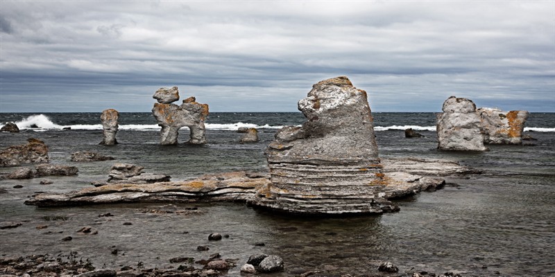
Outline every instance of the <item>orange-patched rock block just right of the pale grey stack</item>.
{"type": "Polygon", "coordinates": [[[484,143],[522,144],[522,131],[528,111],[479,108],[477,113],[484,128],[484,143]]]}

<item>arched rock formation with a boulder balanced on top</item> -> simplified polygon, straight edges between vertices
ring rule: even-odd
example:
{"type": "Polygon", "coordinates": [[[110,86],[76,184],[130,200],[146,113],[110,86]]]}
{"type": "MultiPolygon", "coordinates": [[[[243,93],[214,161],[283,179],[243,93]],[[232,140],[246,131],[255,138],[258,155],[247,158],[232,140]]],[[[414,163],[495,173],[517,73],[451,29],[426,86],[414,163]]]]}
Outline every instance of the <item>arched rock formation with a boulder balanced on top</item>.
{"type": "Polygon", "coordinates": [[[194,97],[183,100],[181,105],[172,104],[179,100],[178,87],[171,89],[158,89],[153,98],[158,102],[154,103],[152,113],[158,125],[162,127],[160,131],[160,144],[174,145],[178,143],[178,131],[181,127],[189,127],[190,139],[187,143],[204,144],[206,143],[204,121],[208,115],[208,105],[195,102],[194,97]]]}

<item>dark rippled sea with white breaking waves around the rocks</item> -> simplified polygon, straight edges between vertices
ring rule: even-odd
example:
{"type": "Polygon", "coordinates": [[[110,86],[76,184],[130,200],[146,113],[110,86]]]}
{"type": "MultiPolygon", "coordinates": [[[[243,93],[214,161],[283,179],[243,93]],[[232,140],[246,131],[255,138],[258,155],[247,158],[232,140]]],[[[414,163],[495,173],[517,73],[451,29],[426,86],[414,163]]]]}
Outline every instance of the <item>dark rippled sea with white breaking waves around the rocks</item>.
{"type": "MultiPolygon", "coordinates": [[[[167,174],[172,181],[267,170],[264,150],[275,132],[305,118],[298,112],[214,112],[206,121],[207,144],[188,145],[184,127],[178,145],[163,146],[151,113],[121,112],[119,144],[108,146],[99,145],[100,113],[0,113],[0,125],[14,122],[21,129],[1,132],[0,148],[41,139],[51,163],[79,168],[72,177],[0,179],[0,190],[6,191],[0,193],[0,222],[22,223],[0,229],[0,258],[48,253],[88,259],[97,269],[164,269],[179,266],[170,258],[202,260],[219,253],[237,262],[228,276],[241,276],[241,265],[262,252],[284,260],[284,271],[270,276],[376,275],[384,261],[398,266],[398,275],[555,276],[555,113],[529,115],[524,134],[533,140],[488,145],[488,152],[437,150],[434,112],[375,112],[373,118],[382,159],[457,161],[481,174],[447,177],[445,188],[395,200],[400,211],[382,215],[298,217],[243,203],[194,202],[37,208],[25,200],[90,187],[108,179],[114,163],[144,166],[145,172],[167,174]],[[240,143],[239,127],[257,128],[259,141],[240,143]],[[407,128],[424,137],[405,138],[407,128]],[[71,153],[85,150],[115,160],[70,161],[71,153]],[[44,180],[53,184],[40,184],[44,180]],[[102,216],[108,213],[112,216],[102,216]],[[77,233],[84,226],[98,233],[77,233]],[[226,236],[209,241],[210,233],[226,236]],[[73,240],[62,241],[67,236],[73,240]],[[200,245],[210,250],[198,251],[200,245]]],[[[0,175],[17,168],[0,168],[0,175]]]]}

